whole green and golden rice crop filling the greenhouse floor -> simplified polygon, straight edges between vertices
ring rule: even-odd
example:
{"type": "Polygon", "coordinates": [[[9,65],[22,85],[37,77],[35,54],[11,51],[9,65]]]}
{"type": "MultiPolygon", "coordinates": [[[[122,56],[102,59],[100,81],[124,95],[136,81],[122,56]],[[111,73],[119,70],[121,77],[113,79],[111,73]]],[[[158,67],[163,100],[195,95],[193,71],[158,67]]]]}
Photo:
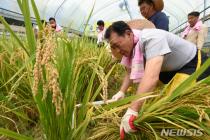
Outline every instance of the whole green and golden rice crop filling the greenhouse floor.
{"type": "Polygon", "coordinates": [[[195,79],[210,65],[208,60],[172,92],[162,85],[154,92],[134,95],[104,105],[92,105],[115,94],[124,68],[106,48],[87,37],[68,38],[43,27],[35,39],[27,1],[19,1],[26,36],[0,36],[0,139],[9,140],[118,140],[121,117],[135,99],[145,99],[135,120],[138,131],[126,140],[209,140],[210,77],[195,79]],[[81,104],[78,106],[77,104],[81,104]],[[163,135],[163,129],[183,130],[163,135]],[[190,131],[192,130],[192,131],[190,131]],[[189,135],[183,134],[188,133],[189,135]]]}

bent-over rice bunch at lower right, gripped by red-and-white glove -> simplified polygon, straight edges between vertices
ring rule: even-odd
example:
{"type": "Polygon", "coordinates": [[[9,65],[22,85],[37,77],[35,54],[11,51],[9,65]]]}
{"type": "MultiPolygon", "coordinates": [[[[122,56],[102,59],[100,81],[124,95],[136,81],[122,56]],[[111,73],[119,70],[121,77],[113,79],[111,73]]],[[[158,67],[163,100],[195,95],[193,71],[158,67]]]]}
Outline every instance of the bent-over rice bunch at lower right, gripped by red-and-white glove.
{"type": "MultiPolygon", "coordinates": [[[[209,63],[210,59],[171,94],[166,92],[168,85],[152,93],[152,95],[158,96],[147,99],[139,111],[139,116],[135,121],[138,132],[127,134],[126,139],[208,140],[210,134],[210,78],[208,77],[196,84],[194,80],[209,66],[209,63]],[[175,130],[173,136],[169,135],[170,132],[168,131],[170,130],[175,130]],[[181,134],[176,130],[182,131],[181,134]],[[199,131],[199,136],[194,135],[197,131],[199,131]]],[[[142,96],[146,96],[146,94],[142,94],[142,96]]],[[[126,100],[128,99],[98,109],[99,112],[103,110],[103,113],[96,113],[93,117],[96,123],[89,139],[114,140],[120,138],[121,116],[123,110],[129,106],[126,100]],[[117,107],[123,104],[127,105],[123,108],[117,107]]]]}

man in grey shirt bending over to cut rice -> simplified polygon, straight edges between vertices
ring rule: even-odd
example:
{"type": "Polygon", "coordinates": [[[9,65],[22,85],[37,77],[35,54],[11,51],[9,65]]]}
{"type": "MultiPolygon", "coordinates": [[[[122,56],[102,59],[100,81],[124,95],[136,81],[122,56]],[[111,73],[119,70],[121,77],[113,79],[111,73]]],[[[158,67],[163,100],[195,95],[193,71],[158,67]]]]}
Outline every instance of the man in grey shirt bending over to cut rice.
{"type": "MultiPolygon", "coordinates": [[[[115,101],[124,98],[124,93],[132,82],[138,84],[136,94],[151,92],[159,80],[167,84],[173,78],[171,84],[178,86],[199,68],[199,62],[202,64],[207,60],[204,53],[201,53],[202,57],[199,59],[195,44],[173,33],[160,29],[132,30],[123,21],[109,26],[105,39],[112,49],[123,55],[121,64],[127,69],[120,92],[112,98],[115,101]]],[[[209,75],[210,67],[197,80],[209,75]]],[[[142,104],[143,101],[133,101],[122,117],[121,139],[125,132],[137,131],[133,122],[138,117],[142,104]]]]}

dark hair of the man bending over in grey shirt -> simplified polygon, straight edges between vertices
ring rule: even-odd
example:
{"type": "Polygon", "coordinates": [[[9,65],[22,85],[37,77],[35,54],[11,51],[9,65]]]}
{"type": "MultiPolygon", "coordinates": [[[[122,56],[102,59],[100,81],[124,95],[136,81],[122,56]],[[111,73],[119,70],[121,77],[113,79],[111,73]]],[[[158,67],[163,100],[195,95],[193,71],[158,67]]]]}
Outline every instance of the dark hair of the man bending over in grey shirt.
{"type": "Polygon", "coordinates": [[[123,36],[127,30],[132,31],[128,24],[124,21],[117,21],[107,28],[104,37],[109,40],[112,32],[117,33],[119,36],[123,36]]]}

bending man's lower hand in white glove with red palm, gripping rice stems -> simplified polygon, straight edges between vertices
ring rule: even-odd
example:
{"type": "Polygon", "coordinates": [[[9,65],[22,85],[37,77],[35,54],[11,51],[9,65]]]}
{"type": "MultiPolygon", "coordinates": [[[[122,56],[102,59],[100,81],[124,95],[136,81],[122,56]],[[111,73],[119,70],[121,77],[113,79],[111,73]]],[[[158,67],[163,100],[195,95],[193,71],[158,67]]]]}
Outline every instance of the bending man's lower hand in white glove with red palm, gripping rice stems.
{"type": "Polygon", "coordinates": [[[134,120],[137,118],[137,116],[138,116],[138,112],[128,108],[120,124],[120,139],[121,140],[124,140],[125,133],[133,133],[137,131],[133,123],[134,120]]]}

